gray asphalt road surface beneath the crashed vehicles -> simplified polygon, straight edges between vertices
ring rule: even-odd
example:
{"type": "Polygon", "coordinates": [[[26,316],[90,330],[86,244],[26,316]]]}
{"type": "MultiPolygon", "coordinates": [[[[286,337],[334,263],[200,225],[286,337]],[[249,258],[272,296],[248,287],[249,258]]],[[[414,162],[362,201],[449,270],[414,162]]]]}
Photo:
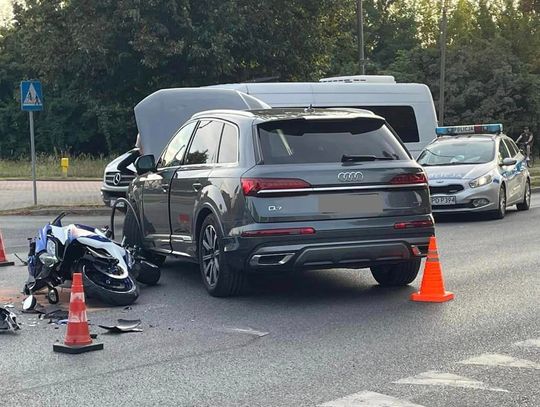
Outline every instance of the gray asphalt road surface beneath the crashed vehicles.
{"type": "MultiPolygon", "coordinates": [[[[20,315],[20,333],[0,335],[0,405],[539,406],[538,206],[438,221],[456,295],[443,304],[409,300],[419,279],[381,288],[368,270],[307,272],[217,299],[173,260],[131,310],[89,304],[103,351],[53,353],[64,327],[20,315]],[[117,318],[142,319],[144,332],[96,326],[117,318]]],[[[46,220],[0,217],[8,252],[24,253],[46,220]]],[[[24,279],[24,267],[0,268],[0,305],[20,308],[24,279]]]]}

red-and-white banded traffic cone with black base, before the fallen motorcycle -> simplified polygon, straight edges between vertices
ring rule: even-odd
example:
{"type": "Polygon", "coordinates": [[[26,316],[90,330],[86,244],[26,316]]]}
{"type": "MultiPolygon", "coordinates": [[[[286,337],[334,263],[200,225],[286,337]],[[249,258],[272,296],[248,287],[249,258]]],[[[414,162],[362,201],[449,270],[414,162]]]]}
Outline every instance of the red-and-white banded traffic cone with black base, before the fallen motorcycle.
{"type": "Polygon", "coordinates": [[[63,344],[55,343],[53,350],[62,353],[83,353],[100,349],[103,349],[103,344],[92,343],[92,338],[90,338],[82,274],[73,273],[66,338],[63,344]]]}

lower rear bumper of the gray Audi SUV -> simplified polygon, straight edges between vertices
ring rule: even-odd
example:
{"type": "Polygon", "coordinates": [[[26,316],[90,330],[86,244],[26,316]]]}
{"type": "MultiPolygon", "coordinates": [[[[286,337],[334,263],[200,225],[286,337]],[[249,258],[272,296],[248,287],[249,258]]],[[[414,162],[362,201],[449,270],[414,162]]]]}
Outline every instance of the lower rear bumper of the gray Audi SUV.
{"type": "MultiPolygon", "coordinates": [[[[416,217],[418,219],[418,217],[416,217]]],[[[393,225],[393,224],[392,224],[393,225]]],[[[410,230],[335,230],[310,236],[243,238],[225,247],[231,265],[246,271],[272,273],[296,269],[364,268],[425,257],[433,227],[410,230]]]]}

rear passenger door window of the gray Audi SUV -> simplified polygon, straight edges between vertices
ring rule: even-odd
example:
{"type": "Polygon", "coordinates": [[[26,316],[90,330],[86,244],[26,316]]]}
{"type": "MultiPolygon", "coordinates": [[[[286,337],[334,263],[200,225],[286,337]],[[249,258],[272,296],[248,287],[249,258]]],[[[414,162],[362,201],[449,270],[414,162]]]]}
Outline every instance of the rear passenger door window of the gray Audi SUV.
{"type": "Polygon", "coordinates": [[[193,136],[185,164],[215,163],[222,130],[222,122],[201,120],[193,136]]]}

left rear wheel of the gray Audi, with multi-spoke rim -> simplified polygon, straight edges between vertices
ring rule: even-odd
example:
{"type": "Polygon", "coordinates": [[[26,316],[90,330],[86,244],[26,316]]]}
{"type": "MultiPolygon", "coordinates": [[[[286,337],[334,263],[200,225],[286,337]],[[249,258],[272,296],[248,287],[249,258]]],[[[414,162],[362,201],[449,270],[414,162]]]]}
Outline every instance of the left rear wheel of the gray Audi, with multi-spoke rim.
{"type": "Polygon", "coordinates": [[[208,215],[199,230],[197,257],[206,290],[213,297],[230,297],[240,294],[245,286],[245,273],[223,260],[223,233],[212,214],[208,215]]]}

